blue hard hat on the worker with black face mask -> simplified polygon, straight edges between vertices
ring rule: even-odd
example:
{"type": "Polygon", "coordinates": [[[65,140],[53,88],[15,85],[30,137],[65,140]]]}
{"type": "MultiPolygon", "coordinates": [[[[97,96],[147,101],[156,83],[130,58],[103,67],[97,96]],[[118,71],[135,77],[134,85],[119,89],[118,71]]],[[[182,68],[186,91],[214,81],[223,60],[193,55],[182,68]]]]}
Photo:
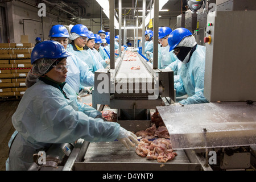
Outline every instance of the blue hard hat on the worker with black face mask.
{"type": "Polygon", "coordinates": [[[180,41],[186,36],[190,36],[192,33],[187,28],[176,28],[171,34],[168,36],[168,44],[170,46],[170,50],[174,49],[180,41]]]}

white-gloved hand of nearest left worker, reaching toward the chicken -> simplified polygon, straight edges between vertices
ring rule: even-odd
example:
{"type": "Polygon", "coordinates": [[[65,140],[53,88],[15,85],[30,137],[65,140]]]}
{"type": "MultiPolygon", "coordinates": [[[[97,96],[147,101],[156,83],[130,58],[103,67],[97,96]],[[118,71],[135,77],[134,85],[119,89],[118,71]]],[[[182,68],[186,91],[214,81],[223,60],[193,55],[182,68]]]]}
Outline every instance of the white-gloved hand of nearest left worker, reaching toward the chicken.
{"type": "Polygon", "coordinates": [[[121,126],[119,129],[119,135],[117,139],[119,142],[122,142],[127,149],[130,149],[129,146],[135,147],[135,145],[139,143],[137,136],[135,134],[131,133],[131,131],[127,131],[121,126]]]}

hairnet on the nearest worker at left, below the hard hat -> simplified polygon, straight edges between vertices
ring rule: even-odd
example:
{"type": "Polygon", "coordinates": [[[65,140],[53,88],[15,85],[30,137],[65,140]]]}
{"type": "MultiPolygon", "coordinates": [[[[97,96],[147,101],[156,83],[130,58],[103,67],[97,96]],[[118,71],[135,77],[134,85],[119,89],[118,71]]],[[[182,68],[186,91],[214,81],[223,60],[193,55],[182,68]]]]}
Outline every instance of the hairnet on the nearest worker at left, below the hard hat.
{"type": "Polygon", "coordinates": [[[51,65],[56,61],[56,59],[39,59],[35,61],[35,64],[33,64],[32,68],[30,69],[30,72],[28,72],[28,75],[26,77],[26,86],[27,88],[30,88],[30,86],[34,85],[36,83],[36,80],[44,75],[48,71],[48,69],[51,67],[51,65]]]}

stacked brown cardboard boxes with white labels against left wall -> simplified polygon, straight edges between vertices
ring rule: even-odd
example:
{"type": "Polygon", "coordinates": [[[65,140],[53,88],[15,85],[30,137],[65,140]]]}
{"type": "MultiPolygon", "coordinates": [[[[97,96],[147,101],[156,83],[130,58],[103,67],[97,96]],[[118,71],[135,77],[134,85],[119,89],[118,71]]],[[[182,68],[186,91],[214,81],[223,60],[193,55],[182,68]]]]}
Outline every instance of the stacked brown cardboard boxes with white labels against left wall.
{"type": "Polygon", "coordinates": [[[33,47],[32,43],[0,44],[0,99],[21,98],[26,91],[33,47]]]}

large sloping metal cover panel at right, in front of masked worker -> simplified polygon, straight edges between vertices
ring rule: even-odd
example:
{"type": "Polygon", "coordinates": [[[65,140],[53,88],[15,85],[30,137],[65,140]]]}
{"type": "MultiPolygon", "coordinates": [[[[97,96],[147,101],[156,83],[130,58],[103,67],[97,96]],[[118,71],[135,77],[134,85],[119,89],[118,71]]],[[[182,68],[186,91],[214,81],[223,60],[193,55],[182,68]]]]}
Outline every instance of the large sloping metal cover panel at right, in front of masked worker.
{"type": "Polygon", "coordinates": [[[255,104],[220,102],[157,109],[175,149],[256,144],[255,104]]]}

